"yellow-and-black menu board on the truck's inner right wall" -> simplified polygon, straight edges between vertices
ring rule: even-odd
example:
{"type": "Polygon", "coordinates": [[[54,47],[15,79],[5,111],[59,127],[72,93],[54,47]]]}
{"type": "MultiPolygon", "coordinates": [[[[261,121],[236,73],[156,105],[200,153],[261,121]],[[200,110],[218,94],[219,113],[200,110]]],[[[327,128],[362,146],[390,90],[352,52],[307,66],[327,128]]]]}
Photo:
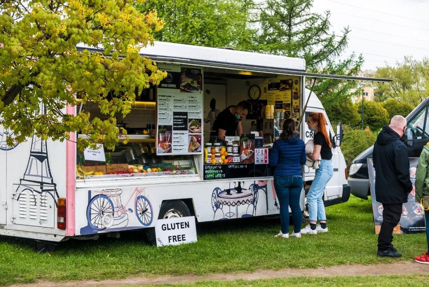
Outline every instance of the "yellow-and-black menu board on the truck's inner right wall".
{"type": "Polygon", "coordinates": [[[300,84],[300,78],[294,76],[268,80],[267,105],[273,105],[274,112],[284,112],[284,119],[299,120],[300,84]]]}

